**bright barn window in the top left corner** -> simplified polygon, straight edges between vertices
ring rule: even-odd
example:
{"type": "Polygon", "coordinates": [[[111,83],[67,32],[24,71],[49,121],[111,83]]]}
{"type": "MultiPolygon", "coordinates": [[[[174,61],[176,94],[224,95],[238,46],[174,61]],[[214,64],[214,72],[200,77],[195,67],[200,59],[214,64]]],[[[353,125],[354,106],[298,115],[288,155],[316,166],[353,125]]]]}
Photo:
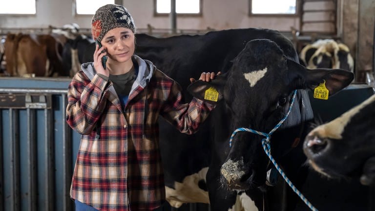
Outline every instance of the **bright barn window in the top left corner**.
{"type": "Polygon", "coordinates": [[[36,14],[35,0],[0,0],[0,14],[36,14]]]}

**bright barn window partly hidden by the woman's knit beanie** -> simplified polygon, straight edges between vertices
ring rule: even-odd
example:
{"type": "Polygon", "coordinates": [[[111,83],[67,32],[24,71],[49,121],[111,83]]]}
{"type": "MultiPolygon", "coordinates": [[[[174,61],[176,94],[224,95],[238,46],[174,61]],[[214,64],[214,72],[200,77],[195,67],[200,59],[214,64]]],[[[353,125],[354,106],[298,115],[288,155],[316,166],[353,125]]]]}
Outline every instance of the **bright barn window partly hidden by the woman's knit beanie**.
{"type": "MultiPolygon", "coordinates": [[[[94,15],[96,10],[105,4],[117,3],[115,0],[76,0],[76,14],[94,15]]],[[[119,4],[119,3],[117,3],[119,4]]]]}

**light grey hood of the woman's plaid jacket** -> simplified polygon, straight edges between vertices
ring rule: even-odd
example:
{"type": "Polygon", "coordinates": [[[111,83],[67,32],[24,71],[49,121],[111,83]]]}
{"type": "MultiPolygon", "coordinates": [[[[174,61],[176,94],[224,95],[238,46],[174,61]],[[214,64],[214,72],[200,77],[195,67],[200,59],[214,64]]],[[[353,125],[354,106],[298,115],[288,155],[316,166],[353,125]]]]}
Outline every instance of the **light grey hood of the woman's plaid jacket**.
{"type": "MultiPolygon", "coordinates": [[[[133,61],[136,61],[138,63],[138,75],[137,78],[135,79],[135,82],[133,83],[129,96],[130,94],[134,91],[135,88],[138,86],[141,86],[142,88],[145,88],[148,82],[152,78],[152,74],[154,72],[155,66],[153,63],[151,63],[148,60],[143,60],[137,55],[132,56],[133,61]]],[[[81,69],[83,70],[84,74],[92,80],[96,74],[96,70],[94,68],[94,65],[92,62],[90,63],[83,63],[81,65],[81,69]]],[[[109,91],[116,94],[115,89],[113,86],[109,87],[109,91]]],[[[117,94],[116,94],[117,96],[117,94]]]]}

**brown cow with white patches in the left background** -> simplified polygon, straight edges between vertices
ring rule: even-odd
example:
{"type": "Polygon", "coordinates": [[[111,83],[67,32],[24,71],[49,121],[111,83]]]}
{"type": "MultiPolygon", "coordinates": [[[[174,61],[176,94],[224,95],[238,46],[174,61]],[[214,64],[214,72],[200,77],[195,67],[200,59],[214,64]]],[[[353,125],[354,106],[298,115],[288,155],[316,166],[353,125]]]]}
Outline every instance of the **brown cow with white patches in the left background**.
{"type": "Polygon", "coordinates": [[[62,46],[51,35],[9,33],[4,46],[6,71],[10,76],[65,75],[59,53],[62,46]]]}

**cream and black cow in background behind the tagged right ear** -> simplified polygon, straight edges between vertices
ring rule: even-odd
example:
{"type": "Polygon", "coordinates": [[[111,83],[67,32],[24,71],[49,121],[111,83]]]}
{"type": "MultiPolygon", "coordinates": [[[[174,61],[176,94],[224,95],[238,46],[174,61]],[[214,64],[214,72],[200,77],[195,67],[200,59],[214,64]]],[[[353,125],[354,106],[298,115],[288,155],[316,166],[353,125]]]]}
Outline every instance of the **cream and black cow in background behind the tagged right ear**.
{"type": "Polygon", "coordinates": [[[300,53],[308,68],[340,68],[354,71],[354,60],[348,46],[331,39],[306,45],[300,53]]]}

